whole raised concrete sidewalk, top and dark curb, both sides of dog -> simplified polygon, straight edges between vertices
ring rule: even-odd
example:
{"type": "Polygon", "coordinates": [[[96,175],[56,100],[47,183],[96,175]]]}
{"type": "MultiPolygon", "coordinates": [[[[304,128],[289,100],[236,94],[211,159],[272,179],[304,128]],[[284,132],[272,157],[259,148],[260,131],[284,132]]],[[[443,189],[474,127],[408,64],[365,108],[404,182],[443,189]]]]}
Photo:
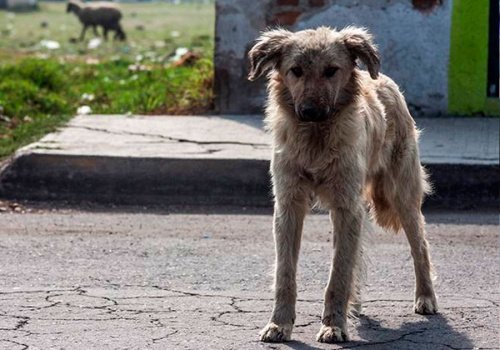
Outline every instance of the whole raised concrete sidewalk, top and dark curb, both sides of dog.
{"type": "MultiPolygon", "coordinates": [[[[447,208],[498,204],[499,119],[418,119],[421,156],[447,208]]],[[[79,116],[0,174],[10,199],[270,205],[261,116],[79,116]]]]}

